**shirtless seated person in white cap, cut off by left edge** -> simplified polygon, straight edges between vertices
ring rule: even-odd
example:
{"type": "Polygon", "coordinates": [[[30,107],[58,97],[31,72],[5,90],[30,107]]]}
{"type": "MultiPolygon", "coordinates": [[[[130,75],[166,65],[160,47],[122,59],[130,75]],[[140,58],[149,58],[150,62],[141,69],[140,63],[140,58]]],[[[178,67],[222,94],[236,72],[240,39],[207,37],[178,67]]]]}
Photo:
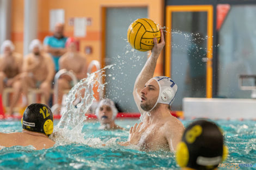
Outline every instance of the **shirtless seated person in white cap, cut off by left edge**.
{"type": "Polygon", "coordinates": [[[5,40],[1,46],[0,55],[0,95],[3,94],[5,87],[13,87],[14,96],[7,112],[9,116],[13,114],[13,108],[21,93],[19,76],[22,70],[22,61],[22,55],[14,52],[13,42],[5,40]]]}

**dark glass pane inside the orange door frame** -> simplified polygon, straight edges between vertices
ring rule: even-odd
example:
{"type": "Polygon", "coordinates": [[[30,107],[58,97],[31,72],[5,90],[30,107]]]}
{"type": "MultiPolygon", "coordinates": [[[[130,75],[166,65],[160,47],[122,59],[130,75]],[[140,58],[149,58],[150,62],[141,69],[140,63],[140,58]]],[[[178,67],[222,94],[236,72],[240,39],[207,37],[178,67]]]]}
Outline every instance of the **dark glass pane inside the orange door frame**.
{"type": "Polygon", "coordinates": [[[172,109],[182,110],[182,98],[206,97],[207,12],[172,12],[171,35],[172,109]]]}

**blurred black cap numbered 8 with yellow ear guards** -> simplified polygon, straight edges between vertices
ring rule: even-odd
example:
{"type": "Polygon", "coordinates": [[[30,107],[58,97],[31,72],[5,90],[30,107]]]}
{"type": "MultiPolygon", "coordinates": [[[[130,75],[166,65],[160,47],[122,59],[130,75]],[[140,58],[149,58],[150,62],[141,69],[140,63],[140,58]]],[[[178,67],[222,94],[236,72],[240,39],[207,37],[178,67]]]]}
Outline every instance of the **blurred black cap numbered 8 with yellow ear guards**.
{"type": "Polygon", "coordinates": [[[188,125],[176,150],[181,167],[215,169],[228,154],[221,129],[214,123],[200,119],[188,125]]]}

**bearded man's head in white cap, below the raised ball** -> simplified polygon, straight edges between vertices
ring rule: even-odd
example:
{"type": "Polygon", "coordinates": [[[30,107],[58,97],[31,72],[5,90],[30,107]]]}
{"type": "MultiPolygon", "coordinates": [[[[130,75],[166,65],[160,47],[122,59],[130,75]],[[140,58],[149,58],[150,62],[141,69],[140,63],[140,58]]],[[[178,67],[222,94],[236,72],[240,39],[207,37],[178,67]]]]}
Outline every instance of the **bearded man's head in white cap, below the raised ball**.
{"type": "Polygon", "coordinates": [[[168,108],[173,103],[178,86],[166,76],[151,78],[141,90],[141,108],[152,111],[157,104],[167,104],[168,108]]]}

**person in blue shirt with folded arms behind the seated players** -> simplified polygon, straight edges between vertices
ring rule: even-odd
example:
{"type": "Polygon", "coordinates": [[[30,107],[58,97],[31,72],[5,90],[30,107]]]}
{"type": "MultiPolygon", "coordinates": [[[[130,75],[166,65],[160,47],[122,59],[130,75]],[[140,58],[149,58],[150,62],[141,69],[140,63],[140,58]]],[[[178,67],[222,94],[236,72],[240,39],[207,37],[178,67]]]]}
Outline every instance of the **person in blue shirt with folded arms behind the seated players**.
{"type": "Polygon", "coordinates": [[[64,24],[57,23],[52,36],[46,36],[44,39],[45,51],[52,56],[55,71],[59,71],[59,58],[66,53],[65,43],[68,37],[63,35],[64,24]]]}

